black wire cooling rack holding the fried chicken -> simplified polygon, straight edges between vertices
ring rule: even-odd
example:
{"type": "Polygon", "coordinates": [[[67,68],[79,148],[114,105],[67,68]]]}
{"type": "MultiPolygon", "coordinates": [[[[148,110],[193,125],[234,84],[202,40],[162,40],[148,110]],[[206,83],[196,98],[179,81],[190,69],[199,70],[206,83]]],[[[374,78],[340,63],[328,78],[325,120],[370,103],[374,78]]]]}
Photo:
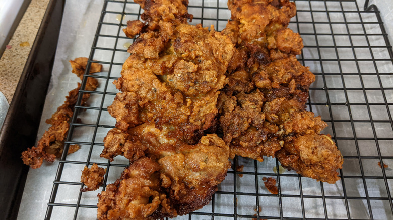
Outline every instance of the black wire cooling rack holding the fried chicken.
{"type": "MultiPolygon", "coordinates": [[[[293,171],[275,173],[279,163],[273,158],[260,163],[236,157],[233,168],[244,165],[243,171],[229,170],[208,205],[179,219],[393,219],[393,53],[378,9],[362,9],[355,0],[296,0],[296,6],[289,27],[305,45],[298,59],[316,75],[307,106],[329,124],[324,133],[333,136],[345,158],[341,180],[316,182],[293,171]],[[380,168],[378,162],[391,167],[380,168]],[[277,179],[278,195],[269,193],[263,177],[277,179]]],[[[217,30],[230,18],[226,1],[191,0],[188,10],[192,24],[213,24],[217,30]]],[[[87,77],[99,80],[100,87],[80,91],[78,103],[89,92],[90,105],[75,107],[64,152],[70,144],[81,149],[62,155],[46,219],[94,219],[96,195],[105,187],[80,192],[80,170],[93,163],[107,168],[106,185],[128,166],[125,158],[109,162],[99,154],[115,124],[106,108],[117,92],[111,83],[120,76],[132,43],[121,29],[140,14],[139,5],[130,0],[104,2],[87,72],[92,60],[108,72],[84,76],[82,88],[87,77]]]]}

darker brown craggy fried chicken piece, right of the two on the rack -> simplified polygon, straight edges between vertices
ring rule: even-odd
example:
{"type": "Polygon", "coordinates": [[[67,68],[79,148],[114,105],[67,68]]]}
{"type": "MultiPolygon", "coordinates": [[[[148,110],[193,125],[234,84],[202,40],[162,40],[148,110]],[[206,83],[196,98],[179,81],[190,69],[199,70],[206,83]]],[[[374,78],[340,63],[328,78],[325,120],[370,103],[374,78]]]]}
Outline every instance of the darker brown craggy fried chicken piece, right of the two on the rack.
{"type": "Polygon", "coordinates": [[[277,157],[289,170],[334,183],[343,160],[330,136],[320,135],[326,123],[305,109],[315,76],[295,57],[303,43],[287,28],[294,3],[233,0],[228,8],[232,21],[222,33],[236,52],[217,107],[231,157],[277,157]]]}

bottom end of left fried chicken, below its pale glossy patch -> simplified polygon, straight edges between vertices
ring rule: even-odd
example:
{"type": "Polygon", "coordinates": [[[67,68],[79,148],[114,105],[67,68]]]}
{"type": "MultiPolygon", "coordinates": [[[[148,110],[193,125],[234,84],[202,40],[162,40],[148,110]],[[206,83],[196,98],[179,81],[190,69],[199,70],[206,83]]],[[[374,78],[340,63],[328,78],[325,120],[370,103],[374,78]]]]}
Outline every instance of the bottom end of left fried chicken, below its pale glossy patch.
{"type": "Polygon", "coordinates": [[[230,168],[229,147],[217,135],[203,136],[196,145],[153,143],[148,157],[135,160],[99,195],[98,219],[187,214],[209,203],[230,168]]]}

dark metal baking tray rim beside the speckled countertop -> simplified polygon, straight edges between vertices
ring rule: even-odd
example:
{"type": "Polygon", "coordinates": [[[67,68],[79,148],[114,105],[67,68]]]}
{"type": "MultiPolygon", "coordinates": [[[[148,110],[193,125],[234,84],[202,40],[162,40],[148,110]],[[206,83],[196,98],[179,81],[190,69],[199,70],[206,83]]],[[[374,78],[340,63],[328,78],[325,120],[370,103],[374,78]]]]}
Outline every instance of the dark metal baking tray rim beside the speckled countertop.
{"type": "Polygon", "coordinates": [[[35,144],[65,0],[51,0],[0,130],[0,219],[16,219],[29,167],[22,151],[35,144]]]}

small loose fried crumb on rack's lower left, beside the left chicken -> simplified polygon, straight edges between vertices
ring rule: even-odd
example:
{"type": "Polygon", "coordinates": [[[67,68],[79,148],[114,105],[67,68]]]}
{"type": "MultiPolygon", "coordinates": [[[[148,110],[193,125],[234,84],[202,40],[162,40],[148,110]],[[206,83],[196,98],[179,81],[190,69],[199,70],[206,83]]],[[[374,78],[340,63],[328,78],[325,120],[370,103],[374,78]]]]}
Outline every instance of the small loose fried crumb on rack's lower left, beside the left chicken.
{"type": "Polygon", "coordinates": [[[87,187],[81,189],[81,192],[97,190],[104,182],[105,173],[106,169],[98,167],[95,163],[90,168],[85,166],[82,171],[81,182],[87,187]]]}

